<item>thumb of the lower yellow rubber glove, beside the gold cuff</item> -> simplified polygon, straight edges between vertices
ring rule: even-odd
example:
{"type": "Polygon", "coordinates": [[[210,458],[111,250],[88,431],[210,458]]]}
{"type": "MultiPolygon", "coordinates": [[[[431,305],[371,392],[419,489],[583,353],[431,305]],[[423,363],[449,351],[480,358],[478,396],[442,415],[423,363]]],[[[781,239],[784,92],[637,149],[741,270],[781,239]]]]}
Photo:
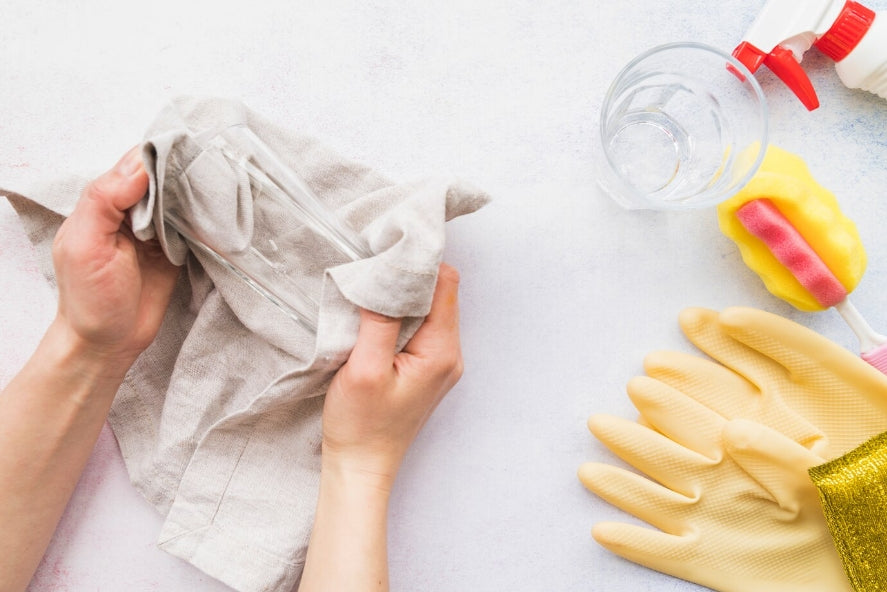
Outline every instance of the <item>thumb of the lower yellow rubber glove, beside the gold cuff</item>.
{"type": "Polygon", "coordinates": [[[824,459],[776,430],[736,419],[724,425],[724,448],[783,510],[795,515],[816,498],[807,469],[824,459]]]}

